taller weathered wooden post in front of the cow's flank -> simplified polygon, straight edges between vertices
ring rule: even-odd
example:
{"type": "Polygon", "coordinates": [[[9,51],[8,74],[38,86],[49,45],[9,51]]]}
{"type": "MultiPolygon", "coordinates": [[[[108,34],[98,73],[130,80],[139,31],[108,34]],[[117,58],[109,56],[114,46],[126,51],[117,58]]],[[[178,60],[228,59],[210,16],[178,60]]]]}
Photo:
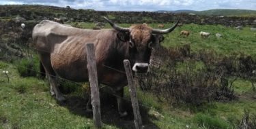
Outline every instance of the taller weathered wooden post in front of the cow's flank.
{"type": "Polygon", "coordinates": [[[101,127],[101,116],[100,116],[100,94],[98,88],[98,75],[95,60],[95,48],[94,43],[86,44],[87,52],[87,68],[89,73],[89,82],[91,87],[91,105],[94,113],[94,125],[96,128],[101,127]]]}

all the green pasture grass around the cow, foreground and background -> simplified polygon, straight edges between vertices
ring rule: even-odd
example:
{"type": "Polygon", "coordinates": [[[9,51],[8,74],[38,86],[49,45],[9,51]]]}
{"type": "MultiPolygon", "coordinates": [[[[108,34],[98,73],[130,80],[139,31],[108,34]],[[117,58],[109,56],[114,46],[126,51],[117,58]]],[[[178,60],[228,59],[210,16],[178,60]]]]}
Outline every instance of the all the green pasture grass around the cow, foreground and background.
{"type": "MultiPolygon", "coordinates": [[[[68,23],[74,24],[74,23],[68,23]]],[[[157,28],[158,24],[150,24],[157,28]]],[[[167,24],[165,26],[171,26],[167,24]]],[[[81,23],[82,28],[91,29],[93,23],[81,23]]],[[[120,24],[128,27],[130,24],[120,24]]],[[[110,28],[109,24],[106,28],[110,28]]],[[[238,31],[220,25],[185,24],[173,33],[165,35],[162,43],[165,47],[176,47],[189,43],[192,52],[213,50],[217,54],[229,55],[244,53],[256,56],[255,32],[249,26],[238,31]],[[188,38],[180,37],[180,31],[191,32],[188,38]],[[212,33],[208,39],[201,39],[200,31],[212,33]],[[223,37],[217,39],[215,33],[223,37]]],[[[57,103],[48,92],[48,82],[37,77],[20,77],[18,63],[0,61],[0,128],[94,128],[92,115],[85,109],[86,92],[81,88],[65,94],[67,103],[57,103]],[[8,77],[2,73],[8,71],[8,77]]],[[[212,102],[201,107],[182,105],[172,107],[169,103],[160,102],[151,93],[138,90],[141,115],[145,128],[237,128],[244,115],[244,109],[256,113],[255,92],[251,82],[237,79],[234,88],[238,100],[212,102]]],[[[104,89],[103,89],[104,90],[104,89]]],[[[112,95],[102,93],[103,128],[134,128],[130,96],[126,88],[126,107],[128,117],[119,118],[112,95]]]]}

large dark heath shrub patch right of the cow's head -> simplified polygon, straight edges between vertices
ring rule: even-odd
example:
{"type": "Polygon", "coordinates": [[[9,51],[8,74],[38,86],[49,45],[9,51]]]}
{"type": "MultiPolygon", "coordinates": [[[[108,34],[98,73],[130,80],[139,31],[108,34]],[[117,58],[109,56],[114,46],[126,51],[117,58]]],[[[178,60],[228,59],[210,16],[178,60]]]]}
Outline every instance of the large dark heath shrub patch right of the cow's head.
{"type": "MultiPolygon", "coordinates": [[[[162,50],[160,54],[154,52],[150,66],[151,71],[144,75],[137,74],[141,90],[153,92],[159,100],[164,98],[170,104],[186,104],[200,106],[211,100],[233,100],[233,81],[229,81],[223,67],[216,67],[211,58],[218,58],[211,52],[201,54],[201,60],[190,55],[189,46],[173,50],[162,50]],[[188,53],[184,56],[181,53],[188,53]],[[165,56],[161,56],[165,55],[165,56]],[[159,57],[159,58],[158,58],[159,57]],[[171,59],[170,59],[171,57],[171,59]],[[193,57],[193,58],[191,58],[193,57]],[[210,60],[206,64],[205,60],[210,60]]],[[[218,60],[217,60],[218,61],[218,60]]]]}

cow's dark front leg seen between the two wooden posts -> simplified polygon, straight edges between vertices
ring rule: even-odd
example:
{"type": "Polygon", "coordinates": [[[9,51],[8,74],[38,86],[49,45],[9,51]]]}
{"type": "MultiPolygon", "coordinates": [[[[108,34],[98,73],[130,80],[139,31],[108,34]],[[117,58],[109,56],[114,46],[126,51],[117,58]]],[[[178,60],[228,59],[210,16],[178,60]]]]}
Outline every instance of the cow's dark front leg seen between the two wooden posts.
{"type": "Polygon", "coordinates": [[[117,94],[117,107],[119,111],[120,117],[124,117],[127,115],[127,112],[124,110],[124,88],[116,91],[117,94]]]}

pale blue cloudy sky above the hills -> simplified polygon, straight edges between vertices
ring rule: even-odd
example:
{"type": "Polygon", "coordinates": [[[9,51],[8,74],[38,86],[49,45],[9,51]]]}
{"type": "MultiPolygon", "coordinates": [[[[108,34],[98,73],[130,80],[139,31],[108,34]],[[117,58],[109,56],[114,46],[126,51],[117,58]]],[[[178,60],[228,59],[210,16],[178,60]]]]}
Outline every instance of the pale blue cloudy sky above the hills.
{"type": "Polygon", "coordinates": [[[0,0],[5,4],[40,4],[104,11],[256,10],[256,0],[0,0]]]}

